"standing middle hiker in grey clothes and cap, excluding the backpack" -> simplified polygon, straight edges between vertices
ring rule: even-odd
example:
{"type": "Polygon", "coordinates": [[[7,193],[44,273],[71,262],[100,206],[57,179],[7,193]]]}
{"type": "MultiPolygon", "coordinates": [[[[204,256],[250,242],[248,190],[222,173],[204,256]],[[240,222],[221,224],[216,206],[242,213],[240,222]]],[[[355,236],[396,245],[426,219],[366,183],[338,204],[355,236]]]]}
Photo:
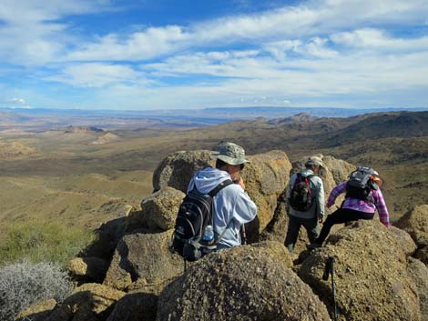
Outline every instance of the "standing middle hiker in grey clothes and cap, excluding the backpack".
{"type": "Polygon", "coordinates": [[[320,173],[321,168],[325,168],[325,166],[322,163],[321,157],[311,156],[306,162],[305,167],[299,174],[303,179],[307,178],[309,180],[311,186],[311,207],[306,211],[299,211],[290,206],[291,191],[299,174],[293,174],[290,177],[290,183],[287,188],[289,227],[284,245],[290,252],[294,250],[301,226],[305,227],[310,242],[315,241],[320,230],[319,224],[322,222],[322,217],[324,216],[324,186],[321,178],[317,175],[320,173]]]}

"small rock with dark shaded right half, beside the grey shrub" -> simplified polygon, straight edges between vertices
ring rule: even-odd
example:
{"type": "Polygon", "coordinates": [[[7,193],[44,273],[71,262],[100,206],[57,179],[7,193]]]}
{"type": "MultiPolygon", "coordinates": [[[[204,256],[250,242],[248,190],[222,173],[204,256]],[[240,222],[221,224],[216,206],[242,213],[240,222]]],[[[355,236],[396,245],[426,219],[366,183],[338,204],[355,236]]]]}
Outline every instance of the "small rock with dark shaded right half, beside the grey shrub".
{"type": "Polygon", "coordinates": [[[70,276],[82,282],[102,282],[106,276],[107,261],[99,257],[75,257],[66,266],[70,276]]]}

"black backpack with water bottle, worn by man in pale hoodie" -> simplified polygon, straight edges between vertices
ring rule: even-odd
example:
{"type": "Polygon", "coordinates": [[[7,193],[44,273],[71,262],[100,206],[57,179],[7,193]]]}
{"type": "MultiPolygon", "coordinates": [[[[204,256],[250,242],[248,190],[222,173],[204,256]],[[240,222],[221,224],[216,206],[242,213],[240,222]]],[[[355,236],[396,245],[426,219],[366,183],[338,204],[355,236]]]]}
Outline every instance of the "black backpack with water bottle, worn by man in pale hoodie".
{"type": "Polygon", "coordinates": [[[196,261],[217,248],[217,242],[207,243],[202,239],[205,227],[212,226],[212,199],[221,189],[233,184],[228,179],[219,184],[209,194],[200,193],[196,186],[184,197],[179,206],[172,248],[187,261],[196,261]]]}

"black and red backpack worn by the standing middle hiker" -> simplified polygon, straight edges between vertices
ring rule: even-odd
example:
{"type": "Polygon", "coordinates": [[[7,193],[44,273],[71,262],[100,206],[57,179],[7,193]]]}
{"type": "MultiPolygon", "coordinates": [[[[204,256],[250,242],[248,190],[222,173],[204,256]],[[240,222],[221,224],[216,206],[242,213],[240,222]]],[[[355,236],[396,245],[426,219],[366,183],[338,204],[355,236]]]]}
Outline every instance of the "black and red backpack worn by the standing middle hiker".
{"type": "Polygon", "coordinates": [[[289,204],[292,209],[307,212],[311,208],[312,190],[310,178],[312,176],[301,176],[301,173],[297,173],[289,198],[289,204]]]}

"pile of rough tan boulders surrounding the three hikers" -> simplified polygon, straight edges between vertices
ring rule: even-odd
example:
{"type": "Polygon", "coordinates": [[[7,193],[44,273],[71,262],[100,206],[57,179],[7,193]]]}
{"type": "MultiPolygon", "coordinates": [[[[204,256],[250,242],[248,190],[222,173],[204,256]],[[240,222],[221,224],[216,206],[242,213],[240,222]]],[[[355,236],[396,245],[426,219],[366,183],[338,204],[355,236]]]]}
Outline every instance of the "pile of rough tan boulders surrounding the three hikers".
{"type": "MultiPolygon", "coordinates": [[[[259,209],[248,225],[250,245],[211,253],[185,268],[169,250],[172,228],[191,176],[212,165],[210,155],[200,150],[168,155],[153,176],[154,194],[141,201],[141,208],[100,226],[97,240],[70,262],[78,285],[73,294],[63,303],[35,303],[21,316],[327,321],[336,305],[341,321],[427,320],[428,207],[416,206],[390,228],[377,219],[337,226],[326,245],[311,252],[302,229],[290,256],[283,246],[288,224],[284,189],[306,157],[291,164],[282,151],[250,155],[243,170],[247,192],[259,209]],[[322,278],[328,257],[334,259],[336,296],[331,277],[322,278]]],[[[355,166],[329,155],[323,161],[327,195],[355,166]]]]}

